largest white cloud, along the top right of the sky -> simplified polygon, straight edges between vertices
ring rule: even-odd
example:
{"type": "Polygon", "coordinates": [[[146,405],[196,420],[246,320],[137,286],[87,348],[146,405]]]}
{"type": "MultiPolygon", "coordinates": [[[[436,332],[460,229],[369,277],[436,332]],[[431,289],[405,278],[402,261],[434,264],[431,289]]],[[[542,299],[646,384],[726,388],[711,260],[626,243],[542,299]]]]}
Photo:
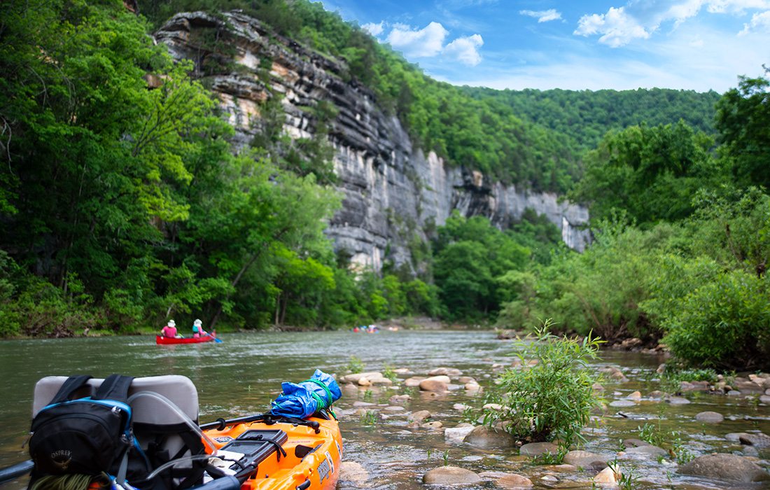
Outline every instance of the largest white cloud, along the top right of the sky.
{"type": "MultiPolygon", "coordinates": [[[[698,15],[703,8],[712,14],[742,15],[747,10],[770,8],[770,0],[629,0],[622,7],[610,7],[606,14],[583,15],[577,22],[574,34],[601,35],[599,42],[618,48],[634,39],[649,39],[665,22],[673,22],[673,28],[677,29],[689,18],[698,15]]],[[[762,15],[757,17],[755,14],[755,18],[752,18],[750,25],[746,25],[744,31],[765,25],[762,15]]]]}

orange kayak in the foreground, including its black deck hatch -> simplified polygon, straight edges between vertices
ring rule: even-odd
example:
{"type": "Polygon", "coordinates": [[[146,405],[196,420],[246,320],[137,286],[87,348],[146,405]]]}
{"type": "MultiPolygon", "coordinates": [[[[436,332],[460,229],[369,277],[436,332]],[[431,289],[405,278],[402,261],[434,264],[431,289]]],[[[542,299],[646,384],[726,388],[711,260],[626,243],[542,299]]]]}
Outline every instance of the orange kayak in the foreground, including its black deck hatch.
{"type": "Polygon", "coordinates": [[[250,472],[240,490],[333,490],[342,461],[337,421],[311,417],[304,419],[308,425],[296,425],[281,420],[227,425],[204,434],[213,440],[217,454],[228,458],[224,468],[250,472]],[[250,466],[231,466],[239,455],[245,455],[241,461],[249,459],[250,466]]]}

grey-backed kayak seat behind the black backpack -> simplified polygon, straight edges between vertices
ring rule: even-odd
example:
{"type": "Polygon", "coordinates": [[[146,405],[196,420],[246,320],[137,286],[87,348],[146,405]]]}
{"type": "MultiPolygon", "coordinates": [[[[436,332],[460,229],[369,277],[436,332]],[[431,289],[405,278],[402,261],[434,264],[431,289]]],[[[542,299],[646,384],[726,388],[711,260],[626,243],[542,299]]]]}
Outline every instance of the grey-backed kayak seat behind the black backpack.
{"type": "MultiPolygon", "coordinates": [[[[49,376],[35,384],[32,417],[50,403],[66,379],[65,376],[49,376]]],[[[92,378],[75,392],[75,396],[92,396],[102,381],[92,378]]],[[[197,426],[199,416],[198,391],[189,378],[172,374],[134,378],[129,388],[129,404],[133,411],[134,435],[144,452],[141,460],[139,457],[129,460],[129,483],[132,467],[136,465],[146,466],[149,462],[151,468],[158,468],[168,461],[206,452],[199,433],[188,425],[188,421],[192,421],[197,426]]],[[[158,478],[135,485],[142,490],[189,488],[202,482],[205,467],[205,460],[180,461],[158,478]]]]}

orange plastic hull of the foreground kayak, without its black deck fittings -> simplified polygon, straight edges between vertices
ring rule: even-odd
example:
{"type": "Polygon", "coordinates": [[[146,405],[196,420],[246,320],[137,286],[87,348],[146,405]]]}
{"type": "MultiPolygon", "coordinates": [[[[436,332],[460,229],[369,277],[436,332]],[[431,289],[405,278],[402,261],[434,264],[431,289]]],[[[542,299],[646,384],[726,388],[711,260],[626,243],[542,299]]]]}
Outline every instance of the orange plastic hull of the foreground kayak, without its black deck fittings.
{"type": "Polygon", "coordinates": [[[286,455],[278,458],[277,451],[259,463],[256,474],[243,482],[240,490],[291,489],[333,490],[340,477],[342,435],[336,420],[310,418],[319,424],[319,433],[304,425],[276,422],[250,422],[229,425],[219,431],[206,431],[217,449],[222,448],[246,431],[286,432],[288,439],[281,447],[286,455]],[[307,452],[308,449],[312,451],[307,452]]]}

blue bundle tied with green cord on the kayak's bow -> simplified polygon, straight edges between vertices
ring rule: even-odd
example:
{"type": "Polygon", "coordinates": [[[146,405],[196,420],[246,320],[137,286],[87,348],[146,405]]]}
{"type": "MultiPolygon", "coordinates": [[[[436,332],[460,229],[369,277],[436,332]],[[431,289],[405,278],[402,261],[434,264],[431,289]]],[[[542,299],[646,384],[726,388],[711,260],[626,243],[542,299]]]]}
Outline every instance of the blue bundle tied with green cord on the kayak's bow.
{"type": "Polygon", "coordinates": [[[298,384],[283,381],[281,388],[283,394],[273,401],[270,414],[284,417],[308,418],[316,411],[330,408],[342,396],[334,378],[320,369],[298,384]]]}

